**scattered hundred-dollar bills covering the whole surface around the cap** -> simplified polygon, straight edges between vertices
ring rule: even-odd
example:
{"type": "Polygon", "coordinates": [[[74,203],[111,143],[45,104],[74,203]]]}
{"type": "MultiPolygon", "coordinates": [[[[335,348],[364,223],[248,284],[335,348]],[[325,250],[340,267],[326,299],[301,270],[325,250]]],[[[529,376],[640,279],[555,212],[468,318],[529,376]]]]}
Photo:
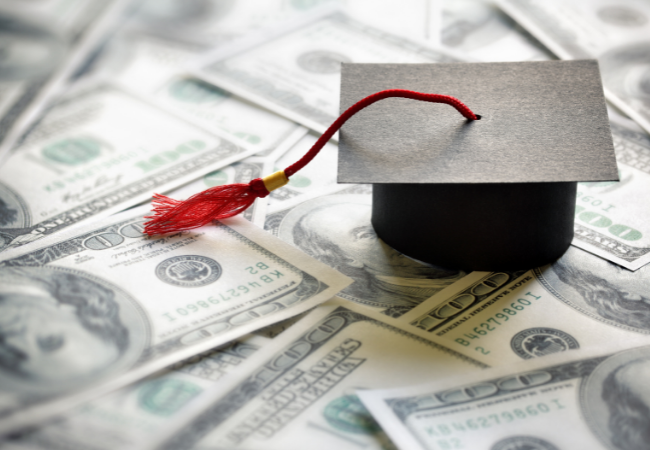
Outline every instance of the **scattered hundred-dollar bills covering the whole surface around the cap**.
{"type": "Polygon", "coordinates": [[[0,449],[649,448],[645,0],[2,0],[0,21],[0,449]],[[239,217],[143,234],[154,193],[299,159],[342,62],[554,58],[598,59],[621,181],[579,184],[553,264],[400,254],[372,188],[336,184],[336,139],[239,217]]]}

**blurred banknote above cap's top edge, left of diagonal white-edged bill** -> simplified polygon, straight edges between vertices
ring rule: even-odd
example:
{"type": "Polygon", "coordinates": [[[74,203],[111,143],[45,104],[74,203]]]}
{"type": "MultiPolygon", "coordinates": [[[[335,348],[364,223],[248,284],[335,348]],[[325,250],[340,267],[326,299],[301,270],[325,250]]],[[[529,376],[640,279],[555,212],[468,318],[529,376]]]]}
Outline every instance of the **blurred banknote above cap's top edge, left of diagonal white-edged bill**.
{"type": "Polygon", "coordinates": [[[503,13],[492,0],[442,2],[443,47],[480,61],[553,59],[546,47],[503,13]]]}

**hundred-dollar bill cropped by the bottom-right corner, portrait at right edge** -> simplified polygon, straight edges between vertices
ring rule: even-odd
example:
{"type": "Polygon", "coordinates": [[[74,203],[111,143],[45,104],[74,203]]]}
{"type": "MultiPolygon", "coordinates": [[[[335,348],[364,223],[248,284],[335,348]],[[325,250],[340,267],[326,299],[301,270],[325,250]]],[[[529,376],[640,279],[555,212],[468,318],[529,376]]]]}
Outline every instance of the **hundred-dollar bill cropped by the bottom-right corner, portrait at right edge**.
{"type": "Polygon", "coordinates": [[[402,450],[648,448],[650,347],[358,391],[402,450]]]}

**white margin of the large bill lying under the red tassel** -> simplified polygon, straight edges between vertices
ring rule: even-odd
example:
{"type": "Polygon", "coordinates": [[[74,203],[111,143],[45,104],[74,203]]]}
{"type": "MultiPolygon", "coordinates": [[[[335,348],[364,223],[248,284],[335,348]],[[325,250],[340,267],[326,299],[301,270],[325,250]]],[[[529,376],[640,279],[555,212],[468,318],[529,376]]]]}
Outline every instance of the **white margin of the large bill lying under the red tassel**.
{"type": "MultiPolygon", "coordinates": [[[[133,208],[128,211],[124,211],[120,214],[116,214],[103,220],[94,221],[92,224],[87,224],[83,227],[76,227],[75,229],[65,230],[64,232],[57,233],[53,236],[49,236],[47,238],[43,238],[31,244],[25,245],[20,249],[13,249],[11,251],[5,252],[0,255],[0,261],[6,261],[8,259],[20,257],[26,253],[31,253],[44,247],[48,247],[50,245],[66,241],[68,239],[87,234],[97,228],[110,225],[111,223],[128,220],[134,217],[143,217],[144,215],[148,214],[148,212],[148,205],[145,205],[139,208],[133,208]]],[[[186,348],[182,351],[176,351],[158,360],[152,360],[146,364],[143,364],[135,370],[127,369],[126,372],[118,375],[112,380],[107,380],[100,385],[90,386],[84,388],[84,390],[81,392],[64,395],[63,397],[55,398],[51,401],[45,401],[37,403],[33,406],[29,406],[21,411],[12,414],[6,420],[3,420],[3,422],[0,423],[0,435],[15,432],[27,426],[41,423],[46,419],[52,418],[54,416],[61,415],[62,413],[72,409],[77,405],[80,405],[101,395],[105,395],[128,384],[134,383],[135,381],[163,370],[172,364],[181,362],[197,354],[204,353],[210,349],[219,347],[228,342],[232,342],[236,339],[239,339],[241,336],[254,332],[259,328],[263,328],[289,317],[301,314],[309,309],[314,308],[320,303],[327,301],[337,292],[352,283],[352,280],[350,278],[346,277],[343,274],[340,274],[331,267],[326,266],[325,264],[311,258],[300,250],[284,243],[280,239],[269,239],[268,233],[265,233],[264,230],[256,227],[243,218],[230,218],[224,220],[223,223],[229,228],[234,229],[242,236],[257,243],[265,250],[277,255],[282,255],[283,259],[291,260],[290,264],[299,267],[302,271],[310,273],[313,276],[317,275],[317,278],[319,280],[331,277],[331,279],[327,280],[328,288],[323,292],[316,294],[313,298],[301,302],[296,306],[292,306],[279,312],[272,313],[268,316],[264,316],[257,321],[250,322],[238,328],[233,328],[227,333],[217,335],[212,339],[208,339],[202,343],[195,344],[194,346],[186,348]]]]}

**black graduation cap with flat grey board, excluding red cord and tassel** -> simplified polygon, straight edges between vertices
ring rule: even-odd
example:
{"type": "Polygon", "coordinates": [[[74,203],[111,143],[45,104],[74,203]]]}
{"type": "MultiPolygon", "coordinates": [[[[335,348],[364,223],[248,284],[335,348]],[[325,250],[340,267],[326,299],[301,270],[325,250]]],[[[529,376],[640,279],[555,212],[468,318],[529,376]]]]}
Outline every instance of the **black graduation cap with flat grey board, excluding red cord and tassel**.
{"type": "Polygon", "coordinates": [[[618,180],[595,60],[343,64],[341,112],[385,89],[450,95],[481,116],[389,98],[341,128],[339,183],[373,185],[378,237],[412,258],[550,263],[573,239],[577,182],[618,180]]]}

